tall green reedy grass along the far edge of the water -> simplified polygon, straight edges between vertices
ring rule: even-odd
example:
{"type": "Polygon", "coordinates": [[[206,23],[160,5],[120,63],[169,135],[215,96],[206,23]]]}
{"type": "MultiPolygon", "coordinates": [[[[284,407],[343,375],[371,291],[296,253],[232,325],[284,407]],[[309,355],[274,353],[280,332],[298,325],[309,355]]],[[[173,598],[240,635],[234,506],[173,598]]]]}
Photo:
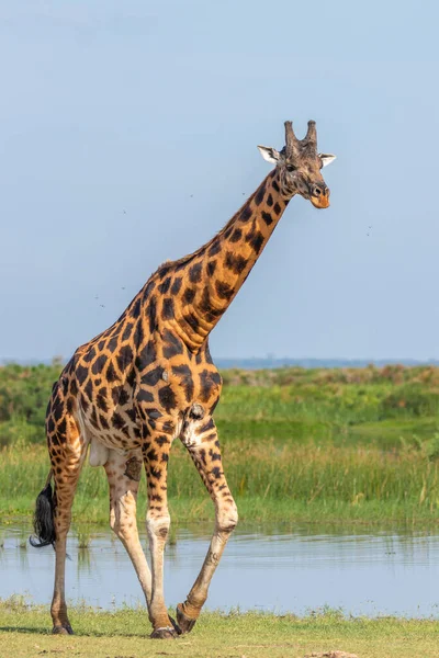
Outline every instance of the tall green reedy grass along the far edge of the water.
{"type": "MultiPolygon", "coordinates": [[[[224,467],[240,519],[248,522],[338,522],[434,524],[439,518],[439,467],[427,449],[297,444],[284,441],[225,444],[224,467]]],[[[3,449],[0,511],[3,519],[31,515],[48,470],[44,446],[3,449]]],[[[145,515],[142,480],[138,517],[145,515]]],[[[213,506],[184,449],[169,462],[171,517],[179,523],[213,517],[213,506]]],[[[108,484],[102,468],[86,465],[75,500],[76,522],[108,520],[108,484]]]]}

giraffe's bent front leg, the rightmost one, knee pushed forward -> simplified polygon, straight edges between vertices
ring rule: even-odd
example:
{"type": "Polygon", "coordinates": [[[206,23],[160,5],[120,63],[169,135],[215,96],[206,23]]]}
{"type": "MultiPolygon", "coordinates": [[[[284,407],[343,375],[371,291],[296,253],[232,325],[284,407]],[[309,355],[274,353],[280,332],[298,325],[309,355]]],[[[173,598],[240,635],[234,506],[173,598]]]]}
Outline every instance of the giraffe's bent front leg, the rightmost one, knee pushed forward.
{"type": "Polygon", "coordinates": [[[207,599],[209,586],[224,548],[238,522],[238,512],[223,468],[219,442],[212,418],[185,423],[181,436],[215,504],[215,529],[201,571],[184,603],[177,606],[182,633],[192,631],[207,599]]]}

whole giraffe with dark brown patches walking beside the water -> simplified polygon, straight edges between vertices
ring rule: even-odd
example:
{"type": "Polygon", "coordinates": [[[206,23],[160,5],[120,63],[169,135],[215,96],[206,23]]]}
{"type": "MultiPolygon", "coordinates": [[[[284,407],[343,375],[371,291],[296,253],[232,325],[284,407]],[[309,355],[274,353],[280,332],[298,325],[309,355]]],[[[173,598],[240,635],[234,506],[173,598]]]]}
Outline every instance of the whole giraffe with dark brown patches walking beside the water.
{"type": "Polygon", "coordinates": [[[300,194],[329,205],[322,167],[335,156],[317,152],[315,122],[297,139],[285,122],[281,151],[259,146],[274,164],[225,227],[193,253],[161,264],[121,317],[79,347],[54,384],[46,415],[50,470],[37,497],[34,546],[55,548],[50,606],[53,632],[71,634],[65,600],[66,540],[71,506],[88,449],[110,487],[110,525],[125,546],[145,594],[153,638],[190,632],[206,601],[213,574],[236,526],[236,503],[224,474],[213,419],[222,377],[209,334],[261,254],[285,207],[300,194]],[[170,517],[167,470],[179,438],[215,508],[215,526],[201,571],[177,621],[164,598],[164,549],[170,517]],[[150,569],[136,524],[142,467],[147,479],[146,527],[150,569]],[[52,489],[54,480],[54,490],[52,489]]]}

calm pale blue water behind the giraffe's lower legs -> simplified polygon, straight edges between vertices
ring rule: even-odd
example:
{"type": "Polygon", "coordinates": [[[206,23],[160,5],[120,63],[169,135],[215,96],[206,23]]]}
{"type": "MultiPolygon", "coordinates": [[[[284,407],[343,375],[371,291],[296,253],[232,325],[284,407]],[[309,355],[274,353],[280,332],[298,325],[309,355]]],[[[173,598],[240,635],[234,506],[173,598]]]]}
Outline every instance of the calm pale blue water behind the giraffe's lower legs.
{"type": "MultiPolygon", "coordinates": [[[[166,552],[165,593],[184,600],[203,561],[210,527],[178,530],[166,552]]],[[[21,547],[29,526],[0,527],[0,597],[52,599],[52,547],[21,547]]],[[[145,535],[142,537],[145,545],[145,535]]],[[[72,535],[67,561],[67,597],[104,609],[143,603],[134,569],[119,540],[92,532],[79,549],[72,535]]],[[[439,617],[439,534],[349,532],[316,526],[240,529],[230,538],[212,581],[207,606],[224,611],[264,610],[304,614],[324,605],[354,615],[439,617]],[[267,531],[267,529],[264,529],[267,531]]]]}

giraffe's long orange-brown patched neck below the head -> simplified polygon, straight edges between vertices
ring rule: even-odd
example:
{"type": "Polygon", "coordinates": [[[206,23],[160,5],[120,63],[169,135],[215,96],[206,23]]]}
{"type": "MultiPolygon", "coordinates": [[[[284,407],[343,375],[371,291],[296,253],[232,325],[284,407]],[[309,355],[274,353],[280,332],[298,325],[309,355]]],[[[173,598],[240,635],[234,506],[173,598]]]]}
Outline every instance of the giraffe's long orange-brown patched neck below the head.
{"type": "MultiPolygon", "coordinates": [[[[289,198],[274,169],[212,240],[193,254],[158,270],[169,291],[169,324],[192,350],[198,350],[218,322],[281,218],[289,198]]],[[[159,285],[159,290],[160,290],[159,285]]]]}

